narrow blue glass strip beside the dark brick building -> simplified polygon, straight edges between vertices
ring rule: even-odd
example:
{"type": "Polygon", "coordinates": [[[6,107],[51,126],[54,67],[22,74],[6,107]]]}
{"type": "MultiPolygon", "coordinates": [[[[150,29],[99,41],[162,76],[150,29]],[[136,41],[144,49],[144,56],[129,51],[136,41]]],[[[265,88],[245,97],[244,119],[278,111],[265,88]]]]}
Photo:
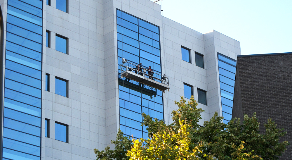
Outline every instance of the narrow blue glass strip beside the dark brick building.
{"type": "Polygon", "coordinates": [[[228,123],[232,117],[232,105],[235,83],[236,60],[218,53],[219,80],[223,122],[228,123]]]}

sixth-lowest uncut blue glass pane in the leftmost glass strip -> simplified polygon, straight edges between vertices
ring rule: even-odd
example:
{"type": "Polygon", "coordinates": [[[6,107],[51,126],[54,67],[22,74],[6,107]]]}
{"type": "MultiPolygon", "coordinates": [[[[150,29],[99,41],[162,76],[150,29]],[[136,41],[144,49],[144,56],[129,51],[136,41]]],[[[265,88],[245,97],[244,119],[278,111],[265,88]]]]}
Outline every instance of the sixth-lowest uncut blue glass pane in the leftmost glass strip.
{"type": "Polygon", "coordinates": [[[20,102],[41,108],[41,99],[39,99],[39,98],[35,98],[35,97],[29,96],[27,94],[15,92],[15,91],[9,90],[7,88],[5,88],[5,90],[4,90],[4,95],[7,98],[14,99],[16,101],[20,101],[20,102]]]}

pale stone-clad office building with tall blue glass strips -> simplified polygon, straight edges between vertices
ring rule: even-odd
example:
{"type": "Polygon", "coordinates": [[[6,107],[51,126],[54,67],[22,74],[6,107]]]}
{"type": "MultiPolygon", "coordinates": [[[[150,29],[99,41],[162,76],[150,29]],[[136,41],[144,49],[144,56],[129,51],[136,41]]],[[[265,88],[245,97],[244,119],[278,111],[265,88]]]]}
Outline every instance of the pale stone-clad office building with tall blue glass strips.
{"type": "Polygon", "coordinates": [[[142,112],[171,123],[180,96],[205,110],[200,125],[215,111],[230,120],[238,41],[149,0],[0,4],[3,159],[96,159],[118,128],[147,138],[142,112]]]}

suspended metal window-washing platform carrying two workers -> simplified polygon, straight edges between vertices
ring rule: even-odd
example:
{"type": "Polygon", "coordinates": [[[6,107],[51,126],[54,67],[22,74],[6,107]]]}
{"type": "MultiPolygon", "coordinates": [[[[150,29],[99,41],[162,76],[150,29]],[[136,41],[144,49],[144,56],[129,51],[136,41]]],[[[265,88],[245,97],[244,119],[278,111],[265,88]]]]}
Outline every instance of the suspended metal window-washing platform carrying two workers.
{"type": "Polygon", "coordinates": [[[135,65],[128,62],[123,58],[123,64],[121,67],[121,78],[129,78],[131,80],[140,82],[144,85],[156,88],[157,90],[165,91],[169,90],[168,77],[159,73],[143,68],[142,66],[135,65]],[[153,74],[152,74],[152,73],[153,74]]]}

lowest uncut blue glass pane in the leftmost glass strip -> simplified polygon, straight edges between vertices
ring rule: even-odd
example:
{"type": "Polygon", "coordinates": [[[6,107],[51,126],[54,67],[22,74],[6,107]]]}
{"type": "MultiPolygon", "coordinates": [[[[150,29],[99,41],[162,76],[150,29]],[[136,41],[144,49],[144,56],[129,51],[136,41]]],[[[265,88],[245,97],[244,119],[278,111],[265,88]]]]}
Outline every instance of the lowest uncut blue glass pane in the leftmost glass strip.
{"type": "Polygon", "coordinates": [[[33,154],[35,156],[40,156],[41,154],[41,147],[36,147],[30,144],[18,142],[7,138],[3,138],[3,147],[18,150],[20,152],[25,152],[28,154],[33,154]]]}

